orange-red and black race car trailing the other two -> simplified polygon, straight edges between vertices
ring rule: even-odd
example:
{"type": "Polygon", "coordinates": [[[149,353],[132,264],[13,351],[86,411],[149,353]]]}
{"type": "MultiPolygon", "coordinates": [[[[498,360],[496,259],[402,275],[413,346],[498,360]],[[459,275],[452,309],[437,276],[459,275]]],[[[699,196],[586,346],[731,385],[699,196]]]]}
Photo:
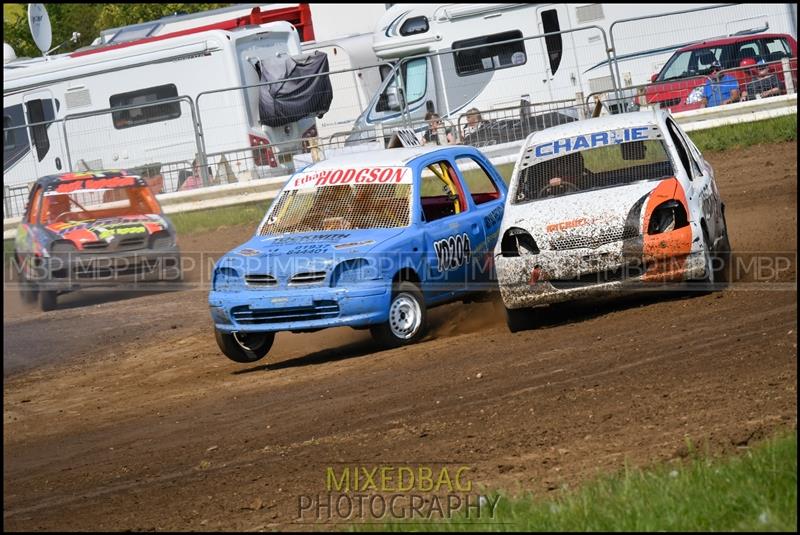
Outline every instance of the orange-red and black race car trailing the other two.
{"type": "Polygon", "coordinates": [[[147,182],[126,171],[37,180],[14,256],[23,300],[38,298],[42,310],[79,288],[181,278],[175,227],[147,182]]]}

